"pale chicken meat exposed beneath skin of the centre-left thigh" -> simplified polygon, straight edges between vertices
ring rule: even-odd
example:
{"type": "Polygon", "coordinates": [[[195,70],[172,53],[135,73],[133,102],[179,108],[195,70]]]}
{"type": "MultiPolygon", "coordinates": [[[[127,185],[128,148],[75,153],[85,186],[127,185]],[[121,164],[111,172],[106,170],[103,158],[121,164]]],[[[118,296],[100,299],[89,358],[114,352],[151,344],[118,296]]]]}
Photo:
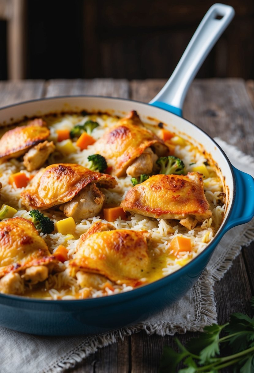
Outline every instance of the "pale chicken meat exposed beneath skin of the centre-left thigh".
{"type": "Polygon", "coordinates": [[[60,209],[66,216],[76,219],[87,219],[96,216],[102,209],[105,195],[95,184],[90,184],[82,189],[70,202],[64,203],[60,209]]]}

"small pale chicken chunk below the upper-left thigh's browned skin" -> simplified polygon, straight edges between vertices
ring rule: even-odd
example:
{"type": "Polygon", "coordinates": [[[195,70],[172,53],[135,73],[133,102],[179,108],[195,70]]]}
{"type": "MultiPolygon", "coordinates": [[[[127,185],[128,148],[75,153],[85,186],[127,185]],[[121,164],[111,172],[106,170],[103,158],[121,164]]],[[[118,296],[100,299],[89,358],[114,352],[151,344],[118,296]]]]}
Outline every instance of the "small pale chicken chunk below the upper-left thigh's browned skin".
{"type": "Polygon", "coordinates": [[[38,170],[55,150],[53,141],[39,142],[24,155],[24,166],[31,172],[38,170]]]}

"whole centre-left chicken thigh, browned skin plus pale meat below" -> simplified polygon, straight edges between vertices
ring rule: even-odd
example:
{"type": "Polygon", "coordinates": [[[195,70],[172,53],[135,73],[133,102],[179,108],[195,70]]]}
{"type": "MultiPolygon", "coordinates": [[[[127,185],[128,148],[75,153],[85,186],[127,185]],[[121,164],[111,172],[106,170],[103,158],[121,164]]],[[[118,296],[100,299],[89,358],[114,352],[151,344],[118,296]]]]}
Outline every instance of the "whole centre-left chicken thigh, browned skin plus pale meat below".
{"type": "Polygon", "coordinates": [[[110,175],[79,164],[58,163],[41,169],[20,197],[28,208],[45,210],[61,205],[66,216],[87,219],[102,209],[105,196],[98,186],[114,188],[115,185],[110,175]]]}

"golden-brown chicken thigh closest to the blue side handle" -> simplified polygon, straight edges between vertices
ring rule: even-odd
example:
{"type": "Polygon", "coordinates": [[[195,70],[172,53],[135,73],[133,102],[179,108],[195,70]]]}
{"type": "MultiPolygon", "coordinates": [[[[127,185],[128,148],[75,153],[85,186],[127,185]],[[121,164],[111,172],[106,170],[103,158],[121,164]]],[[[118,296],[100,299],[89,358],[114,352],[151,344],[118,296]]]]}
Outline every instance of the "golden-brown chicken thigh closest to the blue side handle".
{"type": "Polygon", "coordinates": [[[202,176],[197,172],[189,172],[186,176],[151,176],[127,192],[121,207],[144,216],[182,219],[180,223],[188,229],[212,216],[204,195],[202,176]]]}

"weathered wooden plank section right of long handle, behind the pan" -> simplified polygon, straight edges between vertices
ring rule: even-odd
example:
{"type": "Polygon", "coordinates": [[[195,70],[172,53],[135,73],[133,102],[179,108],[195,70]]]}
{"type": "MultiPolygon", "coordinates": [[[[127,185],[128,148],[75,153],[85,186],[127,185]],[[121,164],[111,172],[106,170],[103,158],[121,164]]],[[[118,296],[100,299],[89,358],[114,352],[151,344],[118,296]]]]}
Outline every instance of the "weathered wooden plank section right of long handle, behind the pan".
{"type": "Polygon", "coordinates": [[[254,112],[242,79],[194,81],[184,103],[183,116],[210,136],[220,137],[254,155],[254,112]]]}

